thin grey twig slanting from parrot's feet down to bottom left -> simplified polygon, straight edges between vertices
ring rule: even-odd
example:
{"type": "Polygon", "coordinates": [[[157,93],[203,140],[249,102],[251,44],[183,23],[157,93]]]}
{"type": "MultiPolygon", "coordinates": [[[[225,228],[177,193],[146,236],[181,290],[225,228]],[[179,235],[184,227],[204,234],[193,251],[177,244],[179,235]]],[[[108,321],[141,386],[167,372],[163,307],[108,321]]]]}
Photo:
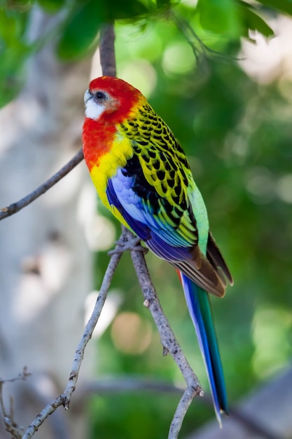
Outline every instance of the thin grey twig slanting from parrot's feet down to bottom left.
{"type": "Polygon", "coordinates": [[[45,421],[45,419],[49,416],[49,414],[55,412],[57,407],[60,407],[60,405],[63,405],[65,410],[69,409],[71,396],[76,388],[78,374],[81,368],[85,348],[88,342],[90,341],[90,338],[92,337],[92,332],[95,329],[95,326],[97,325],[97,321],[99,320],[100,314],[102,313],[102,308],[106,300],[106,294],[111,285],[111,279],[113,278],[113,273],[116,271],[116,267],[118,266],[118,262],[120,260],[121,255],[122,253],[115,253],[109,261],[109,265],[106,269],[106,273],[104,274],[104,279],[102,281],[102,286],[99,290],[97,302],[95,303],[95,309],[92,311],[92,315],[90,317],[90,320],[88,320],[88,324],[85,327],[85,330],[81,337],[81,341],[79,342],[76,348],[73,365],[71,368],[69,380],[67,382],[67,386],[66,389],[64,390],[64,393],[62,393],[62,395],[55,398],[55,400],[53,400],[39,414],[37,414],[34,421],[32,421],[32,424],[30,424],[29,427],[27,428],[27,431],[25,431],[25,435],[23,435],[22,439],[31,439],[34,433],[36,433],[36,431],[38,430],[39,426],[43,424],[43,421],[45,421]]]}

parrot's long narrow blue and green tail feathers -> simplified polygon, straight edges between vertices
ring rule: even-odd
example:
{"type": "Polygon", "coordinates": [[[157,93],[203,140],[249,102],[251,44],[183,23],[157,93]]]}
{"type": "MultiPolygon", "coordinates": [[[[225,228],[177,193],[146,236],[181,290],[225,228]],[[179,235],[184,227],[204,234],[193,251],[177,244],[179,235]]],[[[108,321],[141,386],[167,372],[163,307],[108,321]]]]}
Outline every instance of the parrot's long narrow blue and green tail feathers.
{"type": "Polygon", "coordinates": [[[181,283],[207,369],[216,417],[221,426],[221,412],[227,414],[228,403],[209,295],[183,273],[181,283]]]}

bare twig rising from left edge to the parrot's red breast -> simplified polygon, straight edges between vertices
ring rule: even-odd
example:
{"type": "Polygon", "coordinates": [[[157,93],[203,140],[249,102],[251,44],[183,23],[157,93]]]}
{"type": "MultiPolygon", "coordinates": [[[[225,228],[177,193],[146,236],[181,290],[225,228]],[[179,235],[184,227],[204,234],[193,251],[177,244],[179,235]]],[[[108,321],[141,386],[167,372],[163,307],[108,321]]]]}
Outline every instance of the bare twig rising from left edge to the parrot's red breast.
{"type": "Polygon", "coordinates": [[[75,166],[78,165],[83,160],[83,151],[80,149],[78,153],[71,158],[71,160],[63,166],[60,170],[57,171],[53,175],[53,177],[50,177],[46,182],[41,184],[37,189],[32,191],[30,194],[25,196],[24,198],[21,198],[21,200],[16,201],[16,203],[12,203],[11,205],[8,205],[6,208],[0,208],[0,221],[1,219],[10,217],[14,213],[19,212],[21,209],[25,208],[27,205],[32,203],[36,198],[39,198],[39,196],[43,195],[48,189],[54,186],[57,182],[59,182],[65,175],[67,175],[75,166]]]}

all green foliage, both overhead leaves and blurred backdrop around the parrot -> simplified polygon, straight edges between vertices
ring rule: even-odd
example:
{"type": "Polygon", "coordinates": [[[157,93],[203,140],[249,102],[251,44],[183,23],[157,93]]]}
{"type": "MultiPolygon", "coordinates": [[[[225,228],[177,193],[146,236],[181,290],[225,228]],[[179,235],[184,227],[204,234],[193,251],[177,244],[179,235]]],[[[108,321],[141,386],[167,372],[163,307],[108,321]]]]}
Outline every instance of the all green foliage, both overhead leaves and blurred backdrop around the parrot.
{"type": "MultiPolygon", "coordinates": [[[[252,39],[249,30],[257,29],[270,38],[267,19],[292,15],[291,1],[2,2],[2,105],[18,93],[25,60],[40,48],[27,36],[34,3],[47,13],[62,13],[48,38],[66,59],[92,53],[102,23],[117,20],[118,76],[147,95],[186,150],[211,230],[235,278],[223,300],[212,298],[228,395],[235,402],[288,365],[292,354],[292,82],[279,73],[270,83],[257,83],[237,60],[241,37],[252,39]]],[[[112,221],[102,205],[99,215],[112,221]]],[[[120,226],[113,224],[118,238],[120,226]]],[[[153,255],[146,258],[165,313],[208,389],[176,273],[153,255]]],[[[108,260],[106,252],[97,254],[97,288],[108,260]]],[[[128,374],[183,385],[172,358],[162,357],[130,255],[123,255],[112,288],[123,302],[98,341],[99,376],[128,374]]],[[[166,437],[178,400],[177,394],[146,391],[92,398],[90,437],[166,437]]],[[[211,405],[195,400],[182,436],[209,418],[211,405]]]]}

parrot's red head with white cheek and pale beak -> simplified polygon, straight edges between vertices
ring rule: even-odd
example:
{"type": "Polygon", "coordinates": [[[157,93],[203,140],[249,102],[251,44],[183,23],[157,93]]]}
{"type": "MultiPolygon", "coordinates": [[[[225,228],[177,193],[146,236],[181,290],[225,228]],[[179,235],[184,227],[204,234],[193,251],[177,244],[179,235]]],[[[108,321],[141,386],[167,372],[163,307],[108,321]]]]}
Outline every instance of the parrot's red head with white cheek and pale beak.
{"type": "Polygon", "coordinates": [[[84,95],[85,115],[101,123],[121,123],[144,96],[122,79],[102,76],[93,79],[84,95]]]}

